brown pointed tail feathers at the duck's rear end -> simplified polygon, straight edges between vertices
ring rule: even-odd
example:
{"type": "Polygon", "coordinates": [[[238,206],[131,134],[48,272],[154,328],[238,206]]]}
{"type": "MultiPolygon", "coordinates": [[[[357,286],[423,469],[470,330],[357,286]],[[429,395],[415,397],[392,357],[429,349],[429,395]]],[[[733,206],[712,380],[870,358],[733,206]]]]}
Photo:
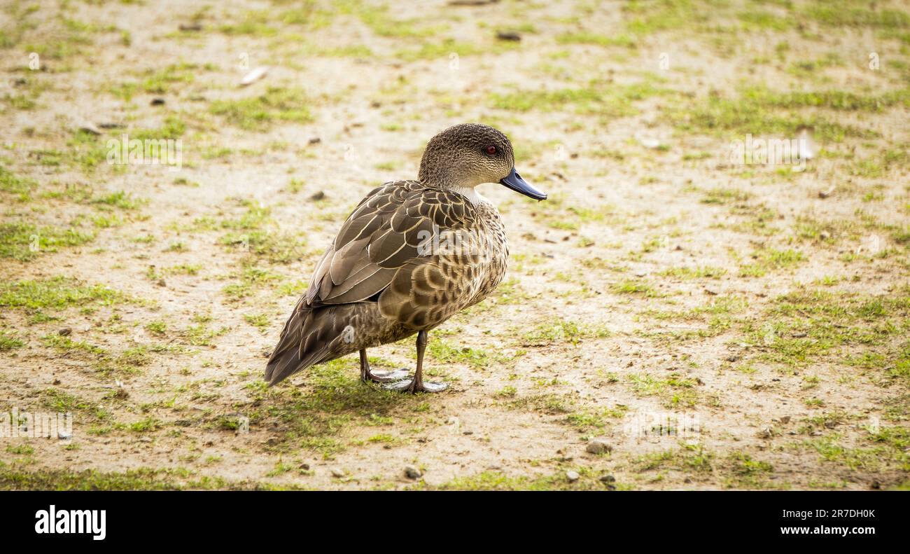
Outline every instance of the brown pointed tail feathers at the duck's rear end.
{"type": "Polygon", "coordinates": [[[344,317],[339,311],[346,312],[346,306],[320,306],[310,308],[305,305],[294,308],[281,331],[278,346],[268,358],[265,379],[268,386],[277,385],[289,376],[303,371],[310,365],[321,364],[346,354],[339,351],[341,333],[344,332],[344,317]]]}

